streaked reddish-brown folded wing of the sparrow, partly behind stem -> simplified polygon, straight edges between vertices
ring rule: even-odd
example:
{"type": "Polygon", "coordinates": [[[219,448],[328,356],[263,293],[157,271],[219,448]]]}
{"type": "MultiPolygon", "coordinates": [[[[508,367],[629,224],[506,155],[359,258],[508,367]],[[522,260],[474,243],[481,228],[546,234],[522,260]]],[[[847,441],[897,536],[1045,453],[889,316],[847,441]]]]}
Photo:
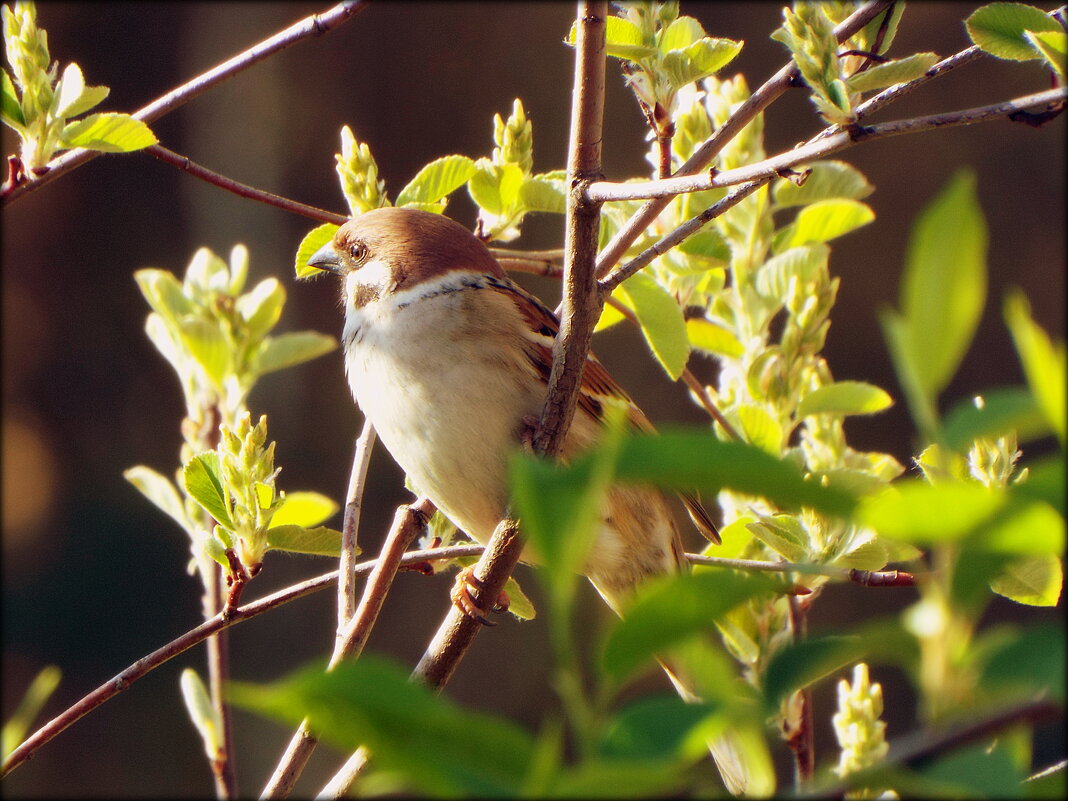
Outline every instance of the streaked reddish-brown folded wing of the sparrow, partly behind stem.
{"type": "MultiPolygon", "coordinates": [[[[530,351],[531,363],[534,368],[549,380],[549,373],[552,370],[552,342],[560,332],[560,323],[556,315],[550,312],[537,298],[524,292],[518,285],[507,282],[493,282],[493,287],[506,293],[515,302],[519,313],[527,320],[531,331],[530,351]]],[[[582,392],[579,395],[579,406],[585,409],[591,417],[600,421],[603,418],[603,402],[608,399],[623,400],[628,405],[627,415],[631,425],[639,431],[653,434],[656,427],[645,417],[645,413],[638,408],[630,395],[616,383],[615,379],[604,368],[596,356],[590,354],[586,358],[585,370],[582,371],[582,392]]],[[[697,531],[716,545],[720,544],[720,533],[716,524],[709,517],[708,512],[701,505],[701,501],[692,492],[679,492],[679,499],[686,506],[690,519],[697,527],[697,531]]]]}

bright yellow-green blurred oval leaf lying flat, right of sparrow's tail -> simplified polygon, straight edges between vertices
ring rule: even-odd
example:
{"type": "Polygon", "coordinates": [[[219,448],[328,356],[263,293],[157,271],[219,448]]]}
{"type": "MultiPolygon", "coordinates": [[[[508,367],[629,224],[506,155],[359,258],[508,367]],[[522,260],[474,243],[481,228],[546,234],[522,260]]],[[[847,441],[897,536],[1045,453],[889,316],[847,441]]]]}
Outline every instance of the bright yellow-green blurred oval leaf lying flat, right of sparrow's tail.
{"type": "Polygon", "coordinates": [[[883,536],[933,545],[971,533],[992,519],[1006,499],[1005,492],[975,482],[928,484],[913,478],[862,500],[855,519],[883,536]]]}

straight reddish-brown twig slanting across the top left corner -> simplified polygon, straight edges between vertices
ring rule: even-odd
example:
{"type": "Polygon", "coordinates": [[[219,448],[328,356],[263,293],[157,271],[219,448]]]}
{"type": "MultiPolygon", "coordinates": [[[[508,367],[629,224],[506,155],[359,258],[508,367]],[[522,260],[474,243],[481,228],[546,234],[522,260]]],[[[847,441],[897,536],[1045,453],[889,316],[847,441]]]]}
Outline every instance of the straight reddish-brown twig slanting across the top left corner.
{"type": "MultiPolygon", "coordinates": [[[[288,28],[279,31],[273,36],[253,45],[248,50],[238,53],[232,59],[227,59],[216,67],[203,73],[190,81],[183,83],[177,89],[168,92],[166,95],[156,98],[144,108],[134,113],[135,120],[150,123],[163,114],[174,111],[193,97],[206,92],[227,78],[233,78],[238,73],[248,69],[253,64],[263,61],[269,56],[273,56],[280,50],[284,50],[290,45],[295,45],[310,36],[321,36],[329,33],[341,23],[351,19],[356,14],[367,6],[366,0],[345,0],[321,14],[313,14],[301,19],[288,28]]],[[[12,187],[3,192],[3,204],[6,205],[19,198],[32,192],[46,184],[51,183],[61,175],[65,175],[77,167],[81,167],[87,161],[100,155],[100,151],[87,151],[82,147],[67,151],[61,156],[53,158],[46,166],[46,172],[35,180],[26,182],[12,187]]]]}

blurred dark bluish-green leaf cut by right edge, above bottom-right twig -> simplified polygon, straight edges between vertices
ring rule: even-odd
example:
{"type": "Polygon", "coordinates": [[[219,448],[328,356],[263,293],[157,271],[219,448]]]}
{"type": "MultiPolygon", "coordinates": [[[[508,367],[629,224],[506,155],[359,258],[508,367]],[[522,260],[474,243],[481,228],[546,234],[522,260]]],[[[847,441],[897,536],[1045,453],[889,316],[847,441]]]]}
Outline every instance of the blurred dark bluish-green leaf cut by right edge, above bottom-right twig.
{"type": "Polygon", "coordinates": [[[988,655],[979,681],[995,696],[1011,688],[1026,695],[1051,692],[1064,703],[1064,629],[1040,625],[1016,633],[988,655]]]}

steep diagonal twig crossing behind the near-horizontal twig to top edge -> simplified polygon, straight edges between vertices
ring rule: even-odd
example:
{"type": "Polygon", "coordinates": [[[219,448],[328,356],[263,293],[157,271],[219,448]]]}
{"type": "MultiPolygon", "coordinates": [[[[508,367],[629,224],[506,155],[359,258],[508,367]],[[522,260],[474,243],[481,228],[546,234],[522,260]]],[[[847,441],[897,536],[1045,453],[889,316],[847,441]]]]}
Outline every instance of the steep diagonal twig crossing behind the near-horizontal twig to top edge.
{"type": "MultiPolygon", "coordinates": [[[[838,42],[852,36],[857,31],[870,22],[875,17],[889,7],[893,0],[874,0],[861,6],[849,17],[844,19],[834,29],[834,35],[838,42]]],[[[749,125],[757,114],[764,111],[773,100],[779,98],[794,82],[794,78],[799,75],[797,66],[792,61],[785,64],[778,73],[764,82],[744,103],[727,119],[723,125],[716,129],[693,155],[676,172],[676,175],[695,175],[704,170],[721,150],[741,130],[749,125]]],[[[608,273],[616,262],[618,262],[627,249],[642,235],[649,226],[649,223],[671,202],[670,198],[654,198],[635,211],[629,220],[616,232],[612,240],[604,246],[604,249],[597,256],[597,277],[601,278],[608,273]]]]}

